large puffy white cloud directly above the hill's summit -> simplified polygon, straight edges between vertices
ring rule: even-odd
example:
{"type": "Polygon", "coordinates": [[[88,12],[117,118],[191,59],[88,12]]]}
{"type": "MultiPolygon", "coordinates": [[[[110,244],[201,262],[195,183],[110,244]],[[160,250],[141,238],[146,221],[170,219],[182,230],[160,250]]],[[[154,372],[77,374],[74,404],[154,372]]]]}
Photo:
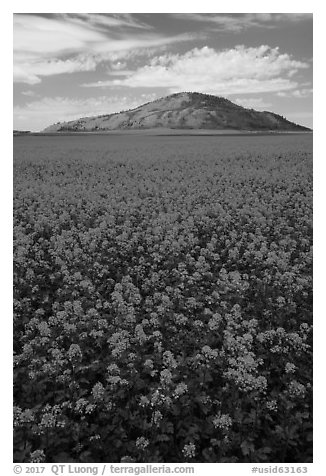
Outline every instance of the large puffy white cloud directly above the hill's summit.
{"type": "Polygon", "coordinates": [[[309,65],[278,48],[237,46],[216,51],[207,46],[185,54],[163,54],[124,78],[86,83],[86,87],[167,88],[217,95],[276,92],[296,88],[293,72],[309,65]],[[289,74],[291,72],[291,78],[289,74]]]}

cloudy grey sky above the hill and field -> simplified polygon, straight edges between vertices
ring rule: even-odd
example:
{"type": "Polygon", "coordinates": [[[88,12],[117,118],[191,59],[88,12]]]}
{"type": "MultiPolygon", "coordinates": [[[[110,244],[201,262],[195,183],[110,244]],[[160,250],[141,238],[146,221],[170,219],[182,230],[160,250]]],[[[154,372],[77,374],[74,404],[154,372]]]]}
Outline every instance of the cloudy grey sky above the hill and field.
{"type": "Polygon", "coordinates": [[[15,13],[14,129],[192,91],[312,127],[307,13],[15,13]]]}

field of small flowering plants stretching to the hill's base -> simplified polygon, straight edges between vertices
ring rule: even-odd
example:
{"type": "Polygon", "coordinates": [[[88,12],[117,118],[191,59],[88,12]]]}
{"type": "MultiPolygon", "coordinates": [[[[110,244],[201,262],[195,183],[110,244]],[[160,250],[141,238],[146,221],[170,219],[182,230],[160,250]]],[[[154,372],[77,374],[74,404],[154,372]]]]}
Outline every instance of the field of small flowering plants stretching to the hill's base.
{"type": "Polygon", "coordinates": [[[15,462],[312,461],[311,142],[14,139],[15,462]]]}

